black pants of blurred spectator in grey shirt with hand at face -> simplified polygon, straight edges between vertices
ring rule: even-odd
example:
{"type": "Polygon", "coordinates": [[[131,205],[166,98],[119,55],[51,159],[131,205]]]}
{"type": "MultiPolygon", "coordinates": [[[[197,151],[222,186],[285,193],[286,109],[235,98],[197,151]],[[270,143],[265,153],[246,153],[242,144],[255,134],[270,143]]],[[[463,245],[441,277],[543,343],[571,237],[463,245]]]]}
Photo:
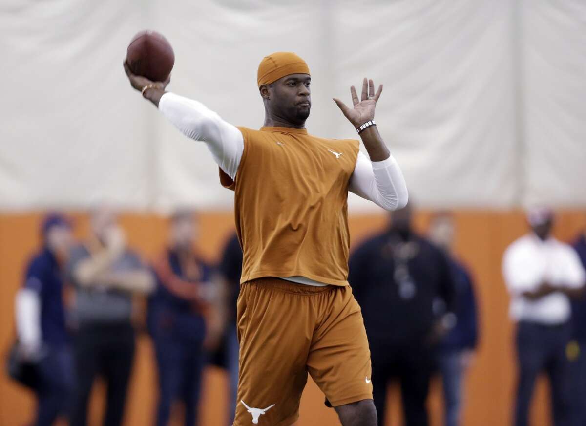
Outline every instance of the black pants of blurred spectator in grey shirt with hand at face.
{"type": "Polygon", "coordinates": [[[76,339],[77,387],[70,426],[87,424],[87,404],[96,376],[107,386],[103,424],[122,424],[128,380],[134,358],[134,330],[130,323],[88,325],[76,339]]]}

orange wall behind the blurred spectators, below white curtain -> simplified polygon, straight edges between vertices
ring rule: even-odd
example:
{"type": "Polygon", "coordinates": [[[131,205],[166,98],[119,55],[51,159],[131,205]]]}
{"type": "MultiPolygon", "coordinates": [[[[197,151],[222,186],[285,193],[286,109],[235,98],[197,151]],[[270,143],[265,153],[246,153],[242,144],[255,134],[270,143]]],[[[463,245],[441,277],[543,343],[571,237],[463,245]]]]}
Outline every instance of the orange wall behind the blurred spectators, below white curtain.
{"type": "MultiPolygon", "coordinates": [[[[76,217],[76,234],[87,231],[87,219],[76,217]]],[[[0,351],[8,348],[13,338],[13,299],[21,282],[26,259],[38,244],[40,214],[0,215],[0,351]]],[[[233,228],[228,213],[205,213],[201,219],[202,253],[215,260],[224,240],[233,228]]],[[[424,229],[428,214],[417,216],[417,226],[424,229]]],[[[510,424],[511,403],[515,384],[515,364],[512,347],[513,327],[507,317],[508,297],[500,276],[500,259],[511,241],[526,230],[523,213],[463,211],[456,213],[458,236],[456,251],[471,267],[476,278],[476,292],[481,314],[481,346],[468,376],[464,424],[493,426],[510,424]]],[[[129,244],[137,248],[146,259],[159,253],[166,241],[166,223],[159,216],[125,214],[121,218],[127,230],[129,244]]],[[[350,230],[353,243],[376,232],[384,225],[383,215],[352,216],[350,230]]],[[[556,234],[569,240],[586,227],[586,215],[581,212],[564,212],[558,216],[556,234]]],[[[0,373],[0,425],[22,425],[30,420],[34,407],[32,396],[0,373]]],[[[373,378],[376,380],[376,377],[373,378]]],[[[141,336],[131,383],[127,407],[127,425],[149,425],[155,408],[156,373],[152,350],[147,336],[141,336]]],[[[202,401],[202,425],[225,426],[226,379],[221,370],[210,368],[205,377],[202,401]]],[[[100,418],[103,388],[96,387],[91,404],[92,424],[100,418]]],[[[397,391],[393,390],[391,410],[387,424],[398,424],[397,391]]],[[[545,426],[547,417],[547,390],[539,384],[532,415],[534,425],[545,426]]],[[[432,426],[440,426],[441,405],[438,385],[430,398],[432,426]]],[[[309,380],[301,404],[298,426],[338,425],[333,410],[323,406],[323,396],[309,380]]],[[[178,423],[176,423],[178,424],[178,423]]]]}

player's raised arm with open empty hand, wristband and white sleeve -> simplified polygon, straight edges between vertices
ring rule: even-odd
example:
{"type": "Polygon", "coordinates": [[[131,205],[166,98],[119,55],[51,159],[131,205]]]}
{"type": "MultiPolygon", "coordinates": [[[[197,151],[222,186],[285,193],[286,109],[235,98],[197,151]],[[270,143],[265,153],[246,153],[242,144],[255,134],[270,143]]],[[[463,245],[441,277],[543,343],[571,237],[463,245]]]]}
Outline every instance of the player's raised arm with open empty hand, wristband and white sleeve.
{"type": "MultiPolygon", "coordinates": [[[[354,108],[348,108],[339,99],[334,99],[346,118],[355,128],[373,123],[374,107],[379,100],[383,86],[374,93],[372,80],[363,80],[362,97],[359,100],[356,88],[350,87],[354,108]],[[370,92],[370,96],[369,96],[370,92]]],[[[352,178],[350,191],[371,200],[385,210],[397,210],[407,205],[408,192],[403,173],[389,149],[380,137],[376,125],[371,124],[360,132],[360,138],[370,156],[370,161],[359,152],[352,178]]]]}

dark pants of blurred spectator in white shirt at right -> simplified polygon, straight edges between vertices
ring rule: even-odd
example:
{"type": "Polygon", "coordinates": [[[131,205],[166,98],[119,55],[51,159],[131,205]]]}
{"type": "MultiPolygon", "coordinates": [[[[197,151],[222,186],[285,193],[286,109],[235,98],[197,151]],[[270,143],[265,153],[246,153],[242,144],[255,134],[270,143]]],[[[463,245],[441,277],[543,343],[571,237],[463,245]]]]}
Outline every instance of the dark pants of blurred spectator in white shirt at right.
{"type": "Polygon", "coordinates": [[[545,326],[521,321],[517,325],[517,361],[519,381],[515,408],[515,426],[529,425],[529,407],[535,380],[547,374],[551,387],[551,406],[555,426],[573,426],[571,422],[570,377],[565,347],[570,326],[545,326]]]}

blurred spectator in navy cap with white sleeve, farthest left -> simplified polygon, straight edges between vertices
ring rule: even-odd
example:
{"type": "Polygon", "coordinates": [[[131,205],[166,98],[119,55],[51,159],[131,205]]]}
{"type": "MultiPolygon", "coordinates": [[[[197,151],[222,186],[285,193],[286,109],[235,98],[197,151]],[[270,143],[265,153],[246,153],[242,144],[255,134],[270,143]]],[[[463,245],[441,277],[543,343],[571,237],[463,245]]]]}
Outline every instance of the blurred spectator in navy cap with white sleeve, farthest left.
{"type": "Polygon", "coordinates": [[[73,238],[60,214],[48,214],[41,227],[42,247],[26,268],[16,294],[19,355],[36,365],[38,398],[35,425],[51,425],[66,415],[74,386],[73,356],[65,328],[64,263],[73,238]]]}

